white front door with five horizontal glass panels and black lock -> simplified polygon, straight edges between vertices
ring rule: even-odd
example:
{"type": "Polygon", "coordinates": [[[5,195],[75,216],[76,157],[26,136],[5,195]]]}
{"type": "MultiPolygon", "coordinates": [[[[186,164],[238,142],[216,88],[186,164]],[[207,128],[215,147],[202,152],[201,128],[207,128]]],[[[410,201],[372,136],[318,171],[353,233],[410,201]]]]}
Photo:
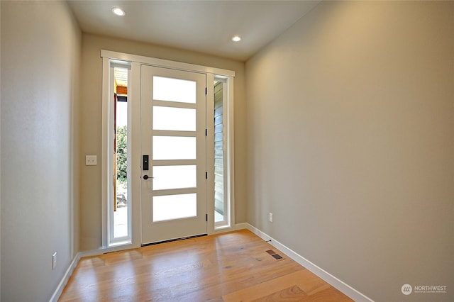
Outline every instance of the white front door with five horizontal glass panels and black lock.
{"type": "Polygon", "coordinates": [[[206,234],[206,75],[141,73],[142,244],[206,234]]]}

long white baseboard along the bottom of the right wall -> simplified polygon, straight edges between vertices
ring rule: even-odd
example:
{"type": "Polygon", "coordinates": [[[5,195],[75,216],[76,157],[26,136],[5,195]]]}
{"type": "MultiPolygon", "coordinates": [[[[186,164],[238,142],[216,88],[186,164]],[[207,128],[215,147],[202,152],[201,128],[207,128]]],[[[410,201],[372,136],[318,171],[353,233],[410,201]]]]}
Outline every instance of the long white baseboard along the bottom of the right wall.
{"type": "Polygon", "coordinates": [[[373,300],[371,298],[368,298],[367,296],[363,295],[356,289],[353,289],[353,287],[349,286],[348,284],[345,284],[345,282],[337,279],[332,274],[326,272],[324,269],[321,269],[321,267],[316,266],[316,264],[310,262],[308,259],[297,254],[297,252],[294,252],[293,250],[289,249],[285,245],[282,245],[282,243],[280,243],[279,241],[270,237],[266,233],[263,233],[258,228],[255,228],[253,225],[250,225],[249,223],[242,223],[242,225],[243,224],[246,225],[246,228],[248,230],[250,230],[255,235],[258,235],[258,237],[262,238],[263,240],[265,240],[265,241],[271,240],[270,244],[272,246],[279,249],[281,252],[283,252],[288,257],[294,259],[294,261],[298,262],[306,269],[309,269],[309,271],[311,271],[312,273],[319,276],[321,279],[323,279],[323,281],[326,281],[326,283],[331,284],[331,286],[335,287],[336,289],[338,289],[339,291],[344,293],[346,296],[352,298],[354,301],[373,302],[373,300]]]}

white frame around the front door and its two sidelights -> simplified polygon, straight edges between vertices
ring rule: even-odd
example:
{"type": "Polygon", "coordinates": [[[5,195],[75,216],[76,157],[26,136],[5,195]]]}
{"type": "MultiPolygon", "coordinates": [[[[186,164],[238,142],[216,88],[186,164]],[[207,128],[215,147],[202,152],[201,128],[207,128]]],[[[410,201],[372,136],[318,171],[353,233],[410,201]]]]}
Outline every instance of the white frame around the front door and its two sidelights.
{"type": "MultiPolygon", "coordinates": [[[[231,147],[229,150],[230,154],[230,169],[231,169],[231,187],[229,194],[231,196],[231,221],[234,224],[235,211],[234,211],[234,194],[233,194],[233,78],[235,72],[227,69],[219,69],[214,67],[205,67],[201,65],[193,65],[184,62],[174,62],[170,60],[162,60],[152,57],[143,57],[140,55],[131,55],[123,52],[113,52],[110,50],[101,50],[101,58],[103,60],[103,89],[102,89],[102,140],[101,140],[101,240],[102,249],[108,249],[109,251],[124,250],[131,247],[140,247],[141,244],[141,229],[140,229],[140,119],[133,118],[140,116],[140,66],[153,65],[156,67],[164,67],[170,69],[179,69],[189,72],[201,72],[206,74],[207,83],[213,83],[215,75],[218,77],[226,77],[229,83],[229,101],[231,106],[229,108],[229,115],[231,119],[231,147]],[[108,211],[107,204],[109,198],[109,181],[111,181],[111,175],[109,175],[109,101],[110,101],[110,61],[121,60],[131,62],[131,87],[128,89],[128,101],[131,101],[131,110],[128,111],[128,120],[131,121],[129,124],[131,127],[131,211],[132,211],[132,241],[128,245],[121,245],[117,247],[109,247],[108,242],[108,211]]],[[[208,85],[208,99],[207,104],[213,104],[213,85],[208,85]]],[[[207,110],[210,110],[208,107],[207,110]]],[[[207,111],[208,112],[208,111],[207,111]]],[[[207,123],[208,127],[210,123],[207,123]]],[[[210,133],[210,132],[209,132],[210,133]]],[[[212,138],[207,138],[207,148],[210,147],[209,142],[212,138]]],[[[207,158],[207,162],[211,162],[211,158],[207,158]]],[[[214,162],[214,159],[213,159],[214,162]]],[[[209,165],[207,164],[208,172],[210,173],[209,165]]],[[[207,194],[207,213],[214,213],[214,202],[209,202],[209,192],[214,192],[214,187],[206,186],[207,194]]],[[[233,228],[234,225],[231,225],[233,228]]],[[[221,231],[228,231],[229,229],[223,229],[221,231]]],[[[218,233],[214,230],[214,218],[209,218],[207,223],[207,233],[213,234],[218,233]]]]}

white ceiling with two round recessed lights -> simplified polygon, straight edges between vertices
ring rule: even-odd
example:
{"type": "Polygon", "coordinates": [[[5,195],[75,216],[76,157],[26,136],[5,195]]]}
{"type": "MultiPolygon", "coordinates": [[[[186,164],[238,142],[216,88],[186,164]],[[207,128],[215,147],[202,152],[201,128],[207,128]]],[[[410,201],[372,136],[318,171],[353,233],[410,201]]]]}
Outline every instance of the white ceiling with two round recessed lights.
{"type": "Polygon", "coordinates": [[[82,31],[247,60],[319,1],[68,1],[82,31]],[[126,11],[119,17],[114,6],[126,11]],[[243,40],[233,43],[233,35],[243,40]]]}

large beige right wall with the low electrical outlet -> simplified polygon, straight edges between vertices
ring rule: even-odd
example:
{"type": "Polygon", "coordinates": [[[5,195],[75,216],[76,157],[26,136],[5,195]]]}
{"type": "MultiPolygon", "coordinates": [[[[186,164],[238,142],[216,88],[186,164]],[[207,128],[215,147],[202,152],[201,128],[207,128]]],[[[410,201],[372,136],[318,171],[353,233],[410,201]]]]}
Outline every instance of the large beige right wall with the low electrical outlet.
{"type": "Polygon", "coordinates": [[[375,301],[454,300],[453,16],[322,2],[246,62],[248,222],[375,301]]]}

